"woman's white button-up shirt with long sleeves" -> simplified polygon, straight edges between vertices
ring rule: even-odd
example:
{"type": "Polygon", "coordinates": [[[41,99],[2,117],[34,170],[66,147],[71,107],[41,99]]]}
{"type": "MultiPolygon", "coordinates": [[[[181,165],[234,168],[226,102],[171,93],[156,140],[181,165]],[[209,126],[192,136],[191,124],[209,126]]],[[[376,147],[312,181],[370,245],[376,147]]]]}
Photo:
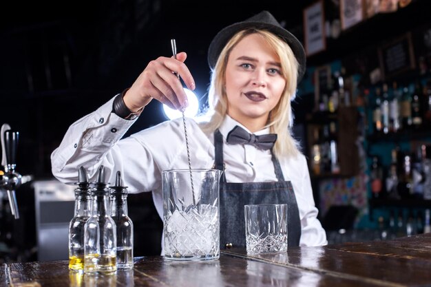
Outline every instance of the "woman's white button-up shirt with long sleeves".
{"type": "MultiPolygon", "coordinates": [[[[112,113],[113,100],[70,126],[61,145],[52,152],[52,173],[62,182],[76,182],[79,167],[85,167],[90,178],[94,178],[103,164],[108,181],[114,184],[116,171],[121,171],[129,192],[152,191],[154,205],[162,218],[161,172],[189,168],[182,119],[169,120],[121,139],[134,120],[112,113]]],[[[220,126],[227,182],[277,181],[271,151],[226,143],[226,136],[235,125],[246,129],[229,116],[220,126]]],[[[269,128],[255,134],[268,133],[269,128]]],[[[187,135],[191,167],[213,167],[213,134],[204,134],[195,120],[187,119],[187,135]]],[[[299,155],[279,160],[284,179],[292,182],[295,191],[302,227],[299,245],[327,244],[326,233],[317,220],[306,158],[299,155]]]]}

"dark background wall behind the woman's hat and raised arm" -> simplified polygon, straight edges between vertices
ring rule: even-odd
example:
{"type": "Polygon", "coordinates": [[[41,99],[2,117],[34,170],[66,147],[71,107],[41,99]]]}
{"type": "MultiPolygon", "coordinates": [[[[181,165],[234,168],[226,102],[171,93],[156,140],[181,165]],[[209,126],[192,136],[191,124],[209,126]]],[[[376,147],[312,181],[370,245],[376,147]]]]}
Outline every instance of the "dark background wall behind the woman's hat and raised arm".
{"type": "MultiPolygon", "coordinates": [[[[3,1],[0,124],[20,131],[18,170],[51,177],[50,153],[67,127],[132,85],[149,61],[170,56],[171,38],[188,53],[203,104],[207,48],[218,30],[269,10],[302,39],[302,8],[309,2],[3,1]]],[[[151,103],[130,132],[165,119],[151,103]]]]}

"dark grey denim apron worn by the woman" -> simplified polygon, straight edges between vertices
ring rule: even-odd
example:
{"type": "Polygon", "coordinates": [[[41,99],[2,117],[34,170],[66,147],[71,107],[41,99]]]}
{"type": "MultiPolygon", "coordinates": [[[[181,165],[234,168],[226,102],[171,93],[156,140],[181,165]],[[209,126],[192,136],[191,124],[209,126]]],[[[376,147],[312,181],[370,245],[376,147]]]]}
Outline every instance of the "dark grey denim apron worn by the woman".
{"type": "MultiPolygon", "coordinates": [[[[223,136],[214,132],[215,169],[224,170],[223,136]]],[[[272,153],[272,151],[271,151],[272,153]]],[[[277,182],[226,182],[224,173],[220,180],[220,247],[245,247],[245,204],[287,204],[288,246],[299,246],[301,221],[292,183],[285,181],[280,162],[273,155],[277,182]]]]}

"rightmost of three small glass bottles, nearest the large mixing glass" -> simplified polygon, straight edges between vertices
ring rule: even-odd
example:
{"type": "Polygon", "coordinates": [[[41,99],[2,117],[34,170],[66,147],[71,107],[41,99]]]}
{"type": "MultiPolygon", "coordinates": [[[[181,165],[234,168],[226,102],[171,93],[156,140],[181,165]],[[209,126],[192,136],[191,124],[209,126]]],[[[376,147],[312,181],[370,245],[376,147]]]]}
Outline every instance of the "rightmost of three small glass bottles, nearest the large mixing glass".
{"type": "Polygon", "coordinates": [[[117,171],[115,186],[111,189],[111,217],[117,231],[117,268],[132,269],[134,266],[133,222],[127,215],[127,187],[123,187],[120,171],[117,171]]]}

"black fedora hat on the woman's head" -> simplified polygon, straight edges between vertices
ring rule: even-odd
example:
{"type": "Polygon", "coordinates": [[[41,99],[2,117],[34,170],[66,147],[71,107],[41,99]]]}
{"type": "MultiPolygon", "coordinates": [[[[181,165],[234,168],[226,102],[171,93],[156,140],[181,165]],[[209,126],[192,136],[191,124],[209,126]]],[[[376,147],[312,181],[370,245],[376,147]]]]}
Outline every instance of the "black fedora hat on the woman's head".
{"type": "Polygon", "coordinates": [[[289,47],[291,47],[293,54],[299,63],[297,78],[297,83],[299,83],[305,73],[306,56],[304,47],[302,47],[301,42],[299,42],[299,40],[296,39],[296,37],[293,36],[291,32],[288,32],[288,30],[284,29],[282,25],[280,25],[280,23],[278,23],[278,21],[268,11],[262,11],[259,14],[255,14],[253,17],[246,19],[245,21],[234,23],[220,30],[220,32],[215,35],[213,41],[211,41],[211,44],[209,44],[209,67],[213,69],[215,63],[217,63],[218,56],[222,52],[224,45],[226,45],[229,39],[231,39],[231,37],[237,32],[248,28],[268,30],[269,32],[279,36],[289,45],[289,47]]]}

